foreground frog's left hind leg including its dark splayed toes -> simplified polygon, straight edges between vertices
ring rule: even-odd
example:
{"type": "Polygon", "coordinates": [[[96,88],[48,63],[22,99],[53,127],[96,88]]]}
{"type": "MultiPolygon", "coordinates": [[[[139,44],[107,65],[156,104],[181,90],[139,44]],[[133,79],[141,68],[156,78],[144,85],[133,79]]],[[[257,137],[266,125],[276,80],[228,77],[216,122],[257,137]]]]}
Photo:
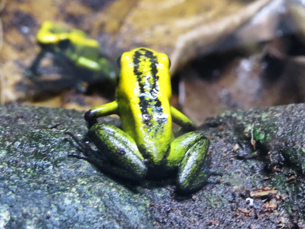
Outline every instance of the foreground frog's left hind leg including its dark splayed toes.
{"type": "Polygon", "coordinates": [[[88,142],[79,140],[73,133],[66,131],[66,134],[72,137],[76,143],[73,145],[84,154],[84,156],[80,154],[68,154],[68,156],[84,159],[102,171],[122,178],[142,180],[146,175],[147,169],[142,154],[133,139],[121,129],[100,123],[93,125],[89,129],[87,138],[90,137],[98,147],[97,151],[91,149],[88,142]]]}

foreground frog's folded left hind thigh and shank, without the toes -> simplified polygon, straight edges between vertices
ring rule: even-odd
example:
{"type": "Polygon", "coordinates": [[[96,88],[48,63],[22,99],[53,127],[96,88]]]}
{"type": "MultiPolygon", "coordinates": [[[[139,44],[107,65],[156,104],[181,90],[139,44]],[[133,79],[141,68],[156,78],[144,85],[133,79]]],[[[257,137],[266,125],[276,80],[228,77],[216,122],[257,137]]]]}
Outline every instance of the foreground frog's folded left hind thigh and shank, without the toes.
{"type": "Polygon", "coordinates": [[[109,163],[97,165],[116,176],[132,180],[142,180],[147,168],[135,140],[123,130],[102,123],[92,125],[88,137],[99,149],[101,158],[109,163]]]}

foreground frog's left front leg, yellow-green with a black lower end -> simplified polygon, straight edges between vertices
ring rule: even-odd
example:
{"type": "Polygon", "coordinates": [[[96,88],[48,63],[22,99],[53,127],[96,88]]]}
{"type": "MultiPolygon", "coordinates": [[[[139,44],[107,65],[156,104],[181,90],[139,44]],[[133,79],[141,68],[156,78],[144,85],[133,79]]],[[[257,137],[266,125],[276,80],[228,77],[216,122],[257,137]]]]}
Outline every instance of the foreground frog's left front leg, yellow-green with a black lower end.
{"type": "Polygon", "coordinates": [[[119,109],[117,101],[113,101],[108,104],[103,104],[99,107],[91,108],[85,113],[85,120],[87,121],[88,128],[97,123],[97,118],[107,115],[118,114],[118,111],[119,109]]]}

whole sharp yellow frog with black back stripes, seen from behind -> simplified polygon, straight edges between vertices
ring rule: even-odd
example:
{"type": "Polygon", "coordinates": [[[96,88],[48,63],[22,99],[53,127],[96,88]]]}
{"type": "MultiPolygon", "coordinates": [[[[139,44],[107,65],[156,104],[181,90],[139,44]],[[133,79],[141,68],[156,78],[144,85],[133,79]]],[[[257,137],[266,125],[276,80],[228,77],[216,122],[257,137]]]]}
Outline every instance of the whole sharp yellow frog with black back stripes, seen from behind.
{"type": "Polygon", "coordinates": [[[137,48],[123,53],[118,63],[116,100],[85,114],[88,137],[99,149],[95,162],[108,173],[132,180],[176,172],[182,192],[202,187],[210,176],[206,161],[210,141],[170,106],[167,55],[137,48]],[[122,129],[97,123],[98,117],[111,114],[120,116],[122,129]],[[172,122],[190,132],[174,138],[172,122]]]}

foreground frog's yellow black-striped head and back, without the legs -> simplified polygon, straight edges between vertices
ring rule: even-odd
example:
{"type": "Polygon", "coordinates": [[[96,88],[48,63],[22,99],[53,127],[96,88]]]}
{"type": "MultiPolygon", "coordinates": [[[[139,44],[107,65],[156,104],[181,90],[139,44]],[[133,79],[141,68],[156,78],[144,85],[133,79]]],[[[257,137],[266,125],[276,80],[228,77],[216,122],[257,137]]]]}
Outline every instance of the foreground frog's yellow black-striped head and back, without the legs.
{"type": "Polygon", "coordinates": [[[120,60],[117,102],[122,128],[135,139],[145,158],[159,164],[172,139],[168,57],[138,48],[124,53],[120,60]]]}

